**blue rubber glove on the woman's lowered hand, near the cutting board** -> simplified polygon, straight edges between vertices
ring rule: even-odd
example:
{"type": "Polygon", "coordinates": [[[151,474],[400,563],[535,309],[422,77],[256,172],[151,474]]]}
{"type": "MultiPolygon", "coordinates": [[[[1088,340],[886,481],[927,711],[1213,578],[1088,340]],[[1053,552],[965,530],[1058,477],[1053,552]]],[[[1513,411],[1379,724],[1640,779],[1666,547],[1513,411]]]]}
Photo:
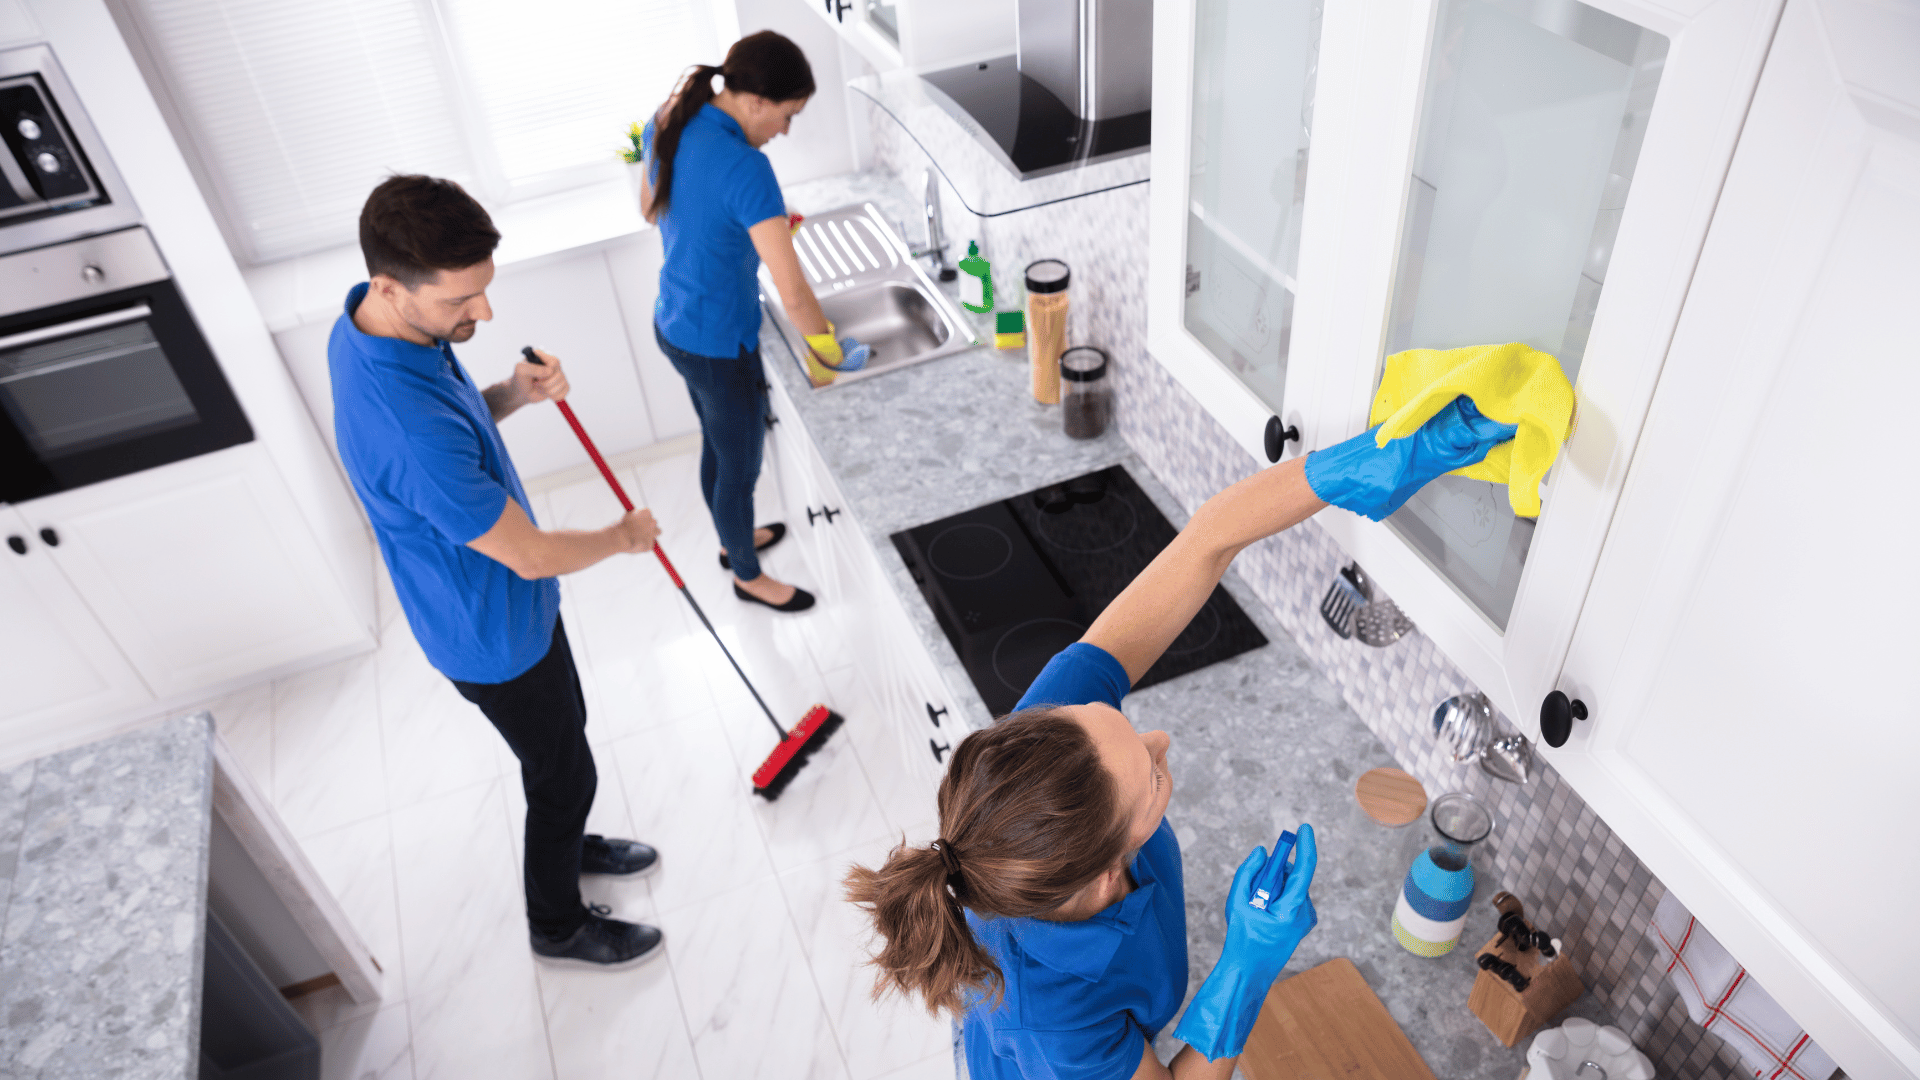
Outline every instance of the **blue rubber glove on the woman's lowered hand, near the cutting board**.
{"type": "Polygon", "coordinates": [[[1173,1038],[1198,1049],[1208,1061],[1236,1057],[1246,1049],[1246,1036],[1260,1019],[1267,990],[1300,947],[1300,940],[1319,922],[1308,897],[1317,863],[1313,826],[1302,824],[1286,888],[1265,911],[1248,901],[1254,896],[1256,874],[1267,865],[1267,849],[1254,847],[1240,863],[1233,874],[1233,892],[1227,894],[1227,945],[1194,994],[1187,1015],[1173,1028],[1173,1038]]]}

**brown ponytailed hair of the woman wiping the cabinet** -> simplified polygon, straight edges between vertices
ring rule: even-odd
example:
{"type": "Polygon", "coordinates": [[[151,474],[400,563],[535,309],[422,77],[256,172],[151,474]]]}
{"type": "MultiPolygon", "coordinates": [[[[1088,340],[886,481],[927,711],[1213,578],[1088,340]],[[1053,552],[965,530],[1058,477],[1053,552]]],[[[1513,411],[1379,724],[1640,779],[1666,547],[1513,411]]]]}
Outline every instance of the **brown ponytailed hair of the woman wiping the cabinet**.
{"type": "Polygon", "coordinates": [[[847,872],[883,947],[874,995],[920,995],[929,1013],[998,997],[1000,967],[962,909],[1044,919],[1127,851],[1114,776],[1092,736],[1060,709],[1014,713],[966,736],[941,780],[941,838],[900,844],[877,871],[847,872]]]}

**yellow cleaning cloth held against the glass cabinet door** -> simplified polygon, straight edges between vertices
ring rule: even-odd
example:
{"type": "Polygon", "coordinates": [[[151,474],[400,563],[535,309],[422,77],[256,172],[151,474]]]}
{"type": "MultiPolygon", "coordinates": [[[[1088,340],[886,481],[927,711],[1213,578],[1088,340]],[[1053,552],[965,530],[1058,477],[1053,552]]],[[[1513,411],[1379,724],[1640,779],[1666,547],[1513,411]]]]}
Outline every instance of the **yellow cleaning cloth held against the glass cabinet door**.
{"type": "Polygon", "coordinates": [[[1572,434],[1572,384],[1551,356],[1519,342],[1503,346],[1415,348],[1386,357],[1386,375],[1373,394],[1367,425],[1380,425],[1373,440],[1386,446],[1419,430],[1457,396],[1473,398],[1490,421],[1517,425],[1513,442],[1501,442],[1478,465],[1455,477],[1507,484],[1507,502],[1519,517],[1540,517],[1540,479],[1572,434]]]}

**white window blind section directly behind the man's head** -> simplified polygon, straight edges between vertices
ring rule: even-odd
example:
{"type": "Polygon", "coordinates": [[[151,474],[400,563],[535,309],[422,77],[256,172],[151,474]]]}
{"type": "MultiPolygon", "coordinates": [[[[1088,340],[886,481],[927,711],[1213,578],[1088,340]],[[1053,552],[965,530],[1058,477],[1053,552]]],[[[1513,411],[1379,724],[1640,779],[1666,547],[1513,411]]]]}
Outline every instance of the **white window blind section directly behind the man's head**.
{"type": "Polygon", "coordinates": [[[123,4],[242,261],[351,244],[388,173],[474,175],[417,0],[123,4]]]}

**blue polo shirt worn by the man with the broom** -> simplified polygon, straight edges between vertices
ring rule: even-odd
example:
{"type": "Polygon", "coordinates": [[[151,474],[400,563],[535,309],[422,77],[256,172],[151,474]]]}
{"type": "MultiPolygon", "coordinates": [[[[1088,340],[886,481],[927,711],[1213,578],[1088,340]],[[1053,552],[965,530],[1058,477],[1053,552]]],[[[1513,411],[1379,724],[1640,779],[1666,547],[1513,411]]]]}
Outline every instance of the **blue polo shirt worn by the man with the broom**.
{"type": "Polygon", "coordinates": [[[447,678],[507,682],[553,646],[561,584],[524,580],[467,542],[509,498],[528,521],[534,507],[453,348],[363,334],[365,298],[367,282],[348,292],[326,340],[340,461],[426,659],[447,678]]]}

